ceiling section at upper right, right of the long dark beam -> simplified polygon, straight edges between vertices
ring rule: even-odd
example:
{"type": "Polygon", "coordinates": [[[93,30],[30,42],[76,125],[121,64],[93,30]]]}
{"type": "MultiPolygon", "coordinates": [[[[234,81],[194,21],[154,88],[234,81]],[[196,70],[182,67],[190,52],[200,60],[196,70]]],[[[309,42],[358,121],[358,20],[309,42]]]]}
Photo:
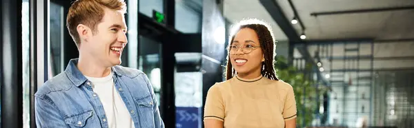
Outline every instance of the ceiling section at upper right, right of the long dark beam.
{"type": "MultiPolygon", "coordinates": [[[[287,0],[275,0],[286,17],[294,14],[287,0]]],[[[414,6],[413,0],[293,0],[306,28],[307,39],[411,39],[414,38],[414,10],[366,12],[311,16],[314,12],[333,12],[371,8],[414,6]]],[[[299,24],[293,25],[298,34],[299,24]]]]}

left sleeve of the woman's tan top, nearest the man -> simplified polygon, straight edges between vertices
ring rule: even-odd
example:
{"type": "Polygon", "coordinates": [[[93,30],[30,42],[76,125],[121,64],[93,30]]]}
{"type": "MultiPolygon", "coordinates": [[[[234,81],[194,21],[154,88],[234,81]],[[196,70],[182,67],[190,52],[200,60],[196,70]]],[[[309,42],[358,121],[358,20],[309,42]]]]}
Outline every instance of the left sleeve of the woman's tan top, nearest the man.
{"type": "Polygon", "coordinates": [[[224,102],[217,84],[208,89],[206,105],[204,106],[204,120],[215,119],[224,121],[224,102]]]}

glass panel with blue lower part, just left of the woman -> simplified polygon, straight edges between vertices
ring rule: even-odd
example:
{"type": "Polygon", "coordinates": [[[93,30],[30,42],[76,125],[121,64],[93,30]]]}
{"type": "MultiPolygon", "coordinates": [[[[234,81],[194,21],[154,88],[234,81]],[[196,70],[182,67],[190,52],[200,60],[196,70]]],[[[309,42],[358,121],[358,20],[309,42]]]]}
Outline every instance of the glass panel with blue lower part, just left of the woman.
{"type": "Polygon", "coordinates": [[[175,53],[175,107],[176,127],[201,128],[203,105],[203,74],[199,72],[201,53],[175,53]],[[191,64],[190,64],[191,63],[191,64]]]}

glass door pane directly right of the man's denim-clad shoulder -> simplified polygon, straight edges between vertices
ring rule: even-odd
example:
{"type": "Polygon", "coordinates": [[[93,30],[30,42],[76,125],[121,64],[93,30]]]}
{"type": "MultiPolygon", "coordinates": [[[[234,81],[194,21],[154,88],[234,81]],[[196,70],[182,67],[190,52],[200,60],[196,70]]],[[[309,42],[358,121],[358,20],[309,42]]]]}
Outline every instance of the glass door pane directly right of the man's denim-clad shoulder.
{"type": "Polygon", "coordinates": [[[161,43],[139,36],[139,70],[143,71],[154,87],[160,105],[161,91],[161,43]]]}

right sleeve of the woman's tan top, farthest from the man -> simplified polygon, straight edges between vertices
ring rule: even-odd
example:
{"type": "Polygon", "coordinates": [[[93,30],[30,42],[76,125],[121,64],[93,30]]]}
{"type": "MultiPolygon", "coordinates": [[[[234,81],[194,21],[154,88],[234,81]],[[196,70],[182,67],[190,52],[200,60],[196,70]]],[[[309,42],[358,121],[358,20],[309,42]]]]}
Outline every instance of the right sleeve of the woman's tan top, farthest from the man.
{"type": "Polygon", "coordinates": [[[290,120],[297,116],[295,93],[293,92],[293,87],[291,85],[288,85],[282,115],[284,120],[290,120]]]}

